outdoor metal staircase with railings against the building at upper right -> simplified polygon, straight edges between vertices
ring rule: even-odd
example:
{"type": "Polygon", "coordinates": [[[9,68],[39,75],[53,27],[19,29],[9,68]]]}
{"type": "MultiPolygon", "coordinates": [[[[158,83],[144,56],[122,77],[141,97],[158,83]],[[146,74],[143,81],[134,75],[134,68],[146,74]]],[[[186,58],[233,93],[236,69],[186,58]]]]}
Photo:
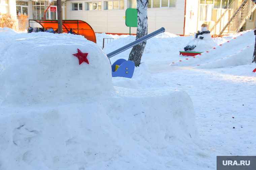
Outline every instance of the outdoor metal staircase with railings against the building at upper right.
{"type": "Polygon", "coordinates": [[[214,37],[236,34],[255,8],[251,0],[234,0],[211,27],[211,34],[214,37]]]}

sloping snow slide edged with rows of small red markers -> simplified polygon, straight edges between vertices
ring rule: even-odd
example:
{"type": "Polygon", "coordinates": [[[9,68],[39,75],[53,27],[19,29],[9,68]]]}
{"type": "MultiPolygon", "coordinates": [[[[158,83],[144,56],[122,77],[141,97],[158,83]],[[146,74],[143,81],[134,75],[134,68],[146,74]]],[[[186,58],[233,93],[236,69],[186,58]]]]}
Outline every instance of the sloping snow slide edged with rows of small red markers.
{"type": "MultiPolygon", "coordinates": [[[[200,65],[201,66],[201,64],[205,64],[205,63],[208,64],[210,62],[213,62],[213,63],[209,64],[208,66],[205,65],[205,68],[250,64],[252,62],[252,56],[253,56],[253,46],[254,46],[253,44],[255,43],[255,36],[253,31],[254,30],[245,32],[244,34],[236,36],[224,44],[220,44],[219,46],[216,46],[215,48],[212,48],[194,57],[187,56],[187,59],[185,58],[185,59],[182,59],[181,61],[170,63],[170,66],[180,66],[180,65],[193,65],[193,66],[200,65]],[[222,60],[225,57],[227,57],[228,59],[215,62],[217,60],[222,60]],[[231,61],[231,60],[234,60],[235,58],[238,60],[231,61]],[[230,63],[228,63],[227,61],[230,61],[230,63]]],[[[200,68],[200,67],[196,67],[196,68],[200,68]]]]}

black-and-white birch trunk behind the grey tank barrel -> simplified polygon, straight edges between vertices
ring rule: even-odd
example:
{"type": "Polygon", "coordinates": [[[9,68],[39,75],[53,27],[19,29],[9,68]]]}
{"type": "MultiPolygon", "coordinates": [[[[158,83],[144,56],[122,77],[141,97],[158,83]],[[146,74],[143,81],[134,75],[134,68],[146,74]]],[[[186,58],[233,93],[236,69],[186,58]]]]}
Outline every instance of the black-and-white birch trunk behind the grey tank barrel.
{"type": "MultiPolygon", "coordinates": [[[[136,40],[148,35],[148,0],[137,0],[138,27],[136,40]]],[[[139,66],[147,41],[144,41],[132,48],[128,60],[134,62],[135,67],[139,66]]]]}

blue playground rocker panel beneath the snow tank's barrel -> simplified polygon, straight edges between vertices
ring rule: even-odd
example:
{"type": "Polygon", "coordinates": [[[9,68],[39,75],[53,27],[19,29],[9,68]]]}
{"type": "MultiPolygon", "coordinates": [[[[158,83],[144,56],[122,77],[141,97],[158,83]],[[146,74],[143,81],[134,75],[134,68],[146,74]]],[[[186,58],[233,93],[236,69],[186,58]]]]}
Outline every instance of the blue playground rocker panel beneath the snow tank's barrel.
{"type": "MultiPolygon", "coordinates": [[[[110,61],[110,60],[109,60],[110,61]]],[[[111,64],[111,62],[110,62],[111,64]]],[[[126,61],[125,59],[118,59],[111,65],[112,77],[126,77],[132,78],[134,72],[134,62],[126,61]],[[115,71],[116,65],[119,65],[117,71],[115,71]]]]}

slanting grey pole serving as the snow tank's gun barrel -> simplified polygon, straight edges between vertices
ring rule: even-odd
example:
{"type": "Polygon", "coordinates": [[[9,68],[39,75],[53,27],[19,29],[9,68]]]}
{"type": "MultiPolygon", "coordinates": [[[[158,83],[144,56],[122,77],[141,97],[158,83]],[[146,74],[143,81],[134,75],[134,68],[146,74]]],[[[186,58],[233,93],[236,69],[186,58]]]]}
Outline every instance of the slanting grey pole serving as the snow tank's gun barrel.
{"type": "Polygon", "coordinates": [[[136,40],[136,41],[134,41],[134,42],[132,42],[130,44],[127,44],[126,46],[121,47],[120,49],[117,49],[116,51],[113,51],[113,52],[107,54],[107,57],[111,58],[111,57],[113,57],[113,56],[115,56],[115,55],[117,55],[117,54],[119,54],[119,53],[129,49],[129,48],[132,48],[133,46],[136,46],[139,43],[142,43],[143,41],[146,41],[146,40],[148,40],[148,39],[150,39],[150,38],[152,38],[152,37],[154,37],[154,36],[156,36],[156,35],[158,35],[160,33],[163,33],[163,32],[165,32],[164,27],[162,27],[159,30],[154,31],[153,33],[150,33],[149,35],[144,36],[144,37],[142,37],[142,38],[140,38],[140,39],[138,39],[138,40],[136,40]]]}

